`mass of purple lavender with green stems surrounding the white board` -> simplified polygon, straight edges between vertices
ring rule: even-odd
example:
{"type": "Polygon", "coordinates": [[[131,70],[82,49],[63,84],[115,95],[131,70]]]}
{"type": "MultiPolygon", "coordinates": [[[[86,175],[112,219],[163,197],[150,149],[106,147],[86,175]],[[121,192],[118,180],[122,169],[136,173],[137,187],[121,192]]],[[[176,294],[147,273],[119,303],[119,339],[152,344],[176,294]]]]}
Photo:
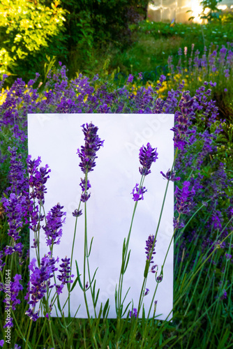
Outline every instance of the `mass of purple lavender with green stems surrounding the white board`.
{"type": "MultiPolygon", "coordinates": [[[[208,57],[207,54],[206,57],[208,57]]],[[[213,52],[209,54],[209,59],[212,59],[211,66],[213,68],[215,66],[217,72],[224,62],[227,64],[227,61],[230,61],[230,59],[226,61],[226,57],[230,57],[230,50],[228,49],[225,53],[222,50],[219,53],[219,60],[216,57],[217,55],[215,56],[213,52]]],[[[207,67],[204,62],[207,58],[203,57],[202,67],[197,61],[197,54],[194,59],[193,72],[199,70],[200,73],[201,69],[204,72],[204,68],[207,67]]],[[[179,67],[182,72],[181,64],[179,67]]],[[[230,75],[231,68],[224,74],[230,75]]],[[[190,74],[190,76],[193,78],[194,75],[190,74]]],[[[204,80],[208,80],[208,76],[205,75],[204,80]]],[[[220,121],[219,110],[213,97],[211,99],[211,89],[218,88],[218,81],[214,81],[211,77],[212,82],[203,82],[203,86],[195,91],[195,98],[191,98],[187,92],[183,93],[186,81],[181,82],[177,89],[172,89],[174,84],[171,84],[170,91],[166,98],[163,98],[160,90],[165,84],[164,77],[161,77],[159,84],[162,87],[158,85],[158,89],[149,85],[135,88],[132,77],[130,77],[131,82],[128,81],[123,87],[116,88],[112,83],[103,82],[97,76],[89,80],[79,75],[77,79],[68,82],[66,67],[61,66],[57,73],[49,74],[47,83],[44,87],[40,85],[40,90],[38,87],[33,87],[38,84],[39,78],[37,75],[36,79],[28,84],[20,79],[16,80],[9,90],[3,91],[0,105],[1,177],[4,183],[1,187],[3,195],[0,217],[0,288],[2,298],[7,299],[4,275],[10,267],[11,283],[13,283],[10,284],[12,296],[10,305],[14,304],[15,308],[11,311],[12,316],[9,320],[13,335],[11,346],[13,347],[14,344],[18,346],[17,343],[19,343],[23,348],[45,348],[45,346],[46,348],[52,346],[54,348],[57,346],[113,348],[117,342],[121,341],[122,348],[135,348],[135,346],[166,348],[166,346],[179,346],[182,341],[183,345],[190,348],[192,345],[193,348],[229,347],[233,340],[232,330],[228,325],[231,321],[233,284],[231,272],[232,168],[230,161],[223,161],[222,155],[219,155],[220,138],[224,135],[225,126],[220,121]],[[215,82],[217,82],[216,87],[215,82]],[[124,265],[117,289],[119,315],[126,311],[128,314],[126,319],[114,322],[104,318],[101,322],[102,320],[96,316],[96,320],[91,319],[85,322],[71,318],[67,321],[64,318],[63,304],[59,302],[59,295],[67,288],[66,303],[69,302],[73,287],[81,283],[80,272],[77,268],[77,276],[73,279],[73,250],[70,256],[62,256],[60,264],[57,256],[53,256],[54,244],[59,239],[62,244],[61,229],[64,214],[60,204],[54,206],[47,214],[43,209],[45,184],[50,172],[47,165],[44,168],[40,166],[40,158],[34,160],[27,158],[26,116],[28,112],[175,113],[174,142],[176,149],[179,150],[175,154],[176,161],[171,170],[162,174],[167,179],[167,184],[171,180],[183,183],[183,185],[178,184],[175,191],[176,211],[172,237],[175,246],[173,322],[160,322],[153,318],[152,314],[151,318],[146,318],[143,311],[142,319],[137,315],[140,314],[140,309],[143,309],[144,297],[149,297],[149,292],[151,295],[151,290],[146,288],[146,282],[142,285],[141,300],[137,308],[133,304],[131,309],[130,306],[123,308],[123,297],[120,295],[121,286],[119,288],[119,285],[123,283],[122,272],[126,272],[127,258],[129,258],[127,241],[130,234],[123,244],[124,265]],[[29,180],[27,180],[28,175],[29,180]],[[30,194],[29,186],[31,186],[30,194]],[[31,261],[28,253],[28,228],[31,228],[34,233],[33,248],[36,252],[36,260],[31,261]],[[45,256],[40,256],[40,234],[44,232],[48,251],[45,256]],[[26,291],[29,281],[28,265],[32,269],[30,278],[33,279],[26,291]],[[55,269],[58,269],[57,276],[54,273],[55,269]],[[27,304],[27,301],[30,302],[29,299],[24,299],[26,292],[31,295],[31,302],[34,302],[30,304],[30,308],[27,304]],[[39,299],[42,295],[43,297],[39,299]],[[37,299],[38,302],[36,302],[37,299]],[[42,318],[38,318],[38,309],[33,308],[36,303],[40,303],[40,312],[44,316],[42,318]],[[51,317],[52,308],[57,309],[61,319],[51,317]],[[28,316],[25,315],[26,312],[28,316]],[[190,325],[187,326],[187,324],[190,325]],[[198,336],[194,337],[194,329],[198,336]]],[[[83,201],[80,200],[79,207],[73,212],[75,222],[82,214],[82,202],[86,207],[90,198],[91,184],[86,172],[93,170],[93,164],[96,161],[93,149],[103,145],[100,144],[103,142],[100,139],[98,139],[98,145],[94,142],[97,139],[96,131],[92,133],[95,128],[91,126],[89,130],[89,126],[84,125],[83,129],[85,137],[90,132],[93,138],[91,138],[90,148],[85,140],[85,145],[78,151],[82,163],[80,168],[84,170],[85,177],[80,183],[83,201]]],[[[153,163],[151,159],[157,157],[156,154],[156,149],[153,149],[150,144],[140,150],[142,177],[149,174],[153,163]]],[[[139,201],[140,205],[143,205],[143,199],[146,200],[144,179],[135,185],[131,195],[135,207],[139,201]]],[[[76,223],[75,227],[77,228],[76,223]]],[[[156,231],[149,232],[149,237],[142,249],[146,247],[144,275],[156,276],[157,288],[160,282],[163,282],[163,266],[166,258],[159,263],[156,261],[154,254],[156,239],[156,231]]],[[[94,295],[91,281],[95,278],[89,276],[88,243],[84,253],[85,251],[86,276],[81,285],[84,295],[91,288],[94,295]]],[[[4,304],[1,302],[0,305],[2,313],[4,304]]],[[[151,310],[154,311],[155,306],[156,297],[154,296],[151,310]]],[[[107,309],[105,310],[107,313],[107,309]]],[[[2,327],[4,325],[6,325],[6,318],[3,319],[2,327]]],[[[3,335],[2,332],[0,339],[3,335]]],[[[7,348],[7,343],[5,340],[4,342],[1,340],[0,344],[4,346],[3,348],[7,348]]]]}

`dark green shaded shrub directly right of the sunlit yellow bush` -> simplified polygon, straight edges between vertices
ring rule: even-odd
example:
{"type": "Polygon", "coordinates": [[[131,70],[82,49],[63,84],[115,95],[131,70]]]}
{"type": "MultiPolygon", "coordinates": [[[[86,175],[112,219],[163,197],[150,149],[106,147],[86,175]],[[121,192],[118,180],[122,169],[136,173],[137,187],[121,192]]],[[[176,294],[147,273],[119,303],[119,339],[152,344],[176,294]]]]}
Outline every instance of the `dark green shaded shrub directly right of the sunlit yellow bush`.
{"type": "Polygon", "coordinates": [[[61,0],[66,13],[68,66],[91,71],[96,47],[131,43],[130,22],[146,17],[148,0],[61,0]]]}

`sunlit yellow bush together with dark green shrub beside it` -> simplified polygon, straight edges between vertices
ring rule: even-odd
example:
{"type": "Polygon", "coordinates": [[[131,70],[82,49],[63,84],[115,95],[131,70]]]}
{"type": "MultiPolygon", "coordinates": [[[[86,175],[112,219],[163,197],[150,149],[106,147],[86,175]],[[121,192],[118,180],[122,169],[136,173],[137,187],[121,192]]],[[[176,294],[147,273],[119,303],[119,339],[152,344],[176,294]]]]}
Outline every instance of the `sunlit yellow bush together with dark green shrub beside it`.
{"type": "MultiPolygon", "coordinates": [[[[129,24],[146,17],[148,0],[3,0],[0,75],[23,79],[43,70],[46,57],[91,73],[96,50],[131,43],[129,24]],[[61,6],[59,6],[59,4],[61,6]]],[[[45,78],[45,77],[43,77],[45,78]]],[[[13,80],[10,81],[13,83],[13,80]]]]}

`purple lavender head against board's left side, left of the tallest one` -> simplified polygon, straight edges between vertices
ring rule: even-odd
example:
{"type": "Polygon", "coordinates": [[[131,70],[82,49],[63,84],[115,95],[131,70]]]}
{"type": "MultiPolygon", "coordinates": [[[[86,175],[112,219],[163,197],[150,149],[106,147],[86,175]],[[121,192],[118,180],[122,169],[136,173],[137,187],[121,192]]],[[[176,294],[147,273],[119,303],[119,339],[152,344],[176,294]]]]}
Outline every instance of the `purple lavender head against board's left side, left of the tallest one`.
{"type": "Polygon", "coordinates": [[[63,206],[59,203],[52,207],[51,211],[46,216],[47,224],[43,226],[43,230],[45,230],[45,235],[47,239],[47,246],[51,246],[52,244],[59,245],[62,235],[62,225],[66,221],[66,212],[61,211],[63,206]]]}

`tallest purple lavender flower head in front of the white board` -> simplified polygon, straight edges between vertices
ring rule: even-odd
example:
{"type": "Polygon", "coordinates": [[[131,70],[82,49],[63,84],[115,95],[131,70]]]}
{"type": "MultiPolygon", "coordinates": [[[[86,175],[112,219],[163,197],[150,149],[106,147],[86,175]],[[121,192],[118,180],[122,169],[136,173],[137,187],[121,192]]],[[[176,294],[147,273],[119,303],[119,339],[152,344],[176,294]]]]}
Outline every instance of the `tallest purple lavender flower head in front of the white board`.
{"type": "Polygon", "coordinates": [[[86,126],[83,124],[81,127],[85,136],[85,145],[81,147],[81,150],[77,149],[77,154],[81,159],[80,168],[86,174],[86,172],[93,171],[96,166],[96,151],[103,147],[104,140],[100,140],[97,135],[98,127],[94,126],[92,122],[86,126]]]}

